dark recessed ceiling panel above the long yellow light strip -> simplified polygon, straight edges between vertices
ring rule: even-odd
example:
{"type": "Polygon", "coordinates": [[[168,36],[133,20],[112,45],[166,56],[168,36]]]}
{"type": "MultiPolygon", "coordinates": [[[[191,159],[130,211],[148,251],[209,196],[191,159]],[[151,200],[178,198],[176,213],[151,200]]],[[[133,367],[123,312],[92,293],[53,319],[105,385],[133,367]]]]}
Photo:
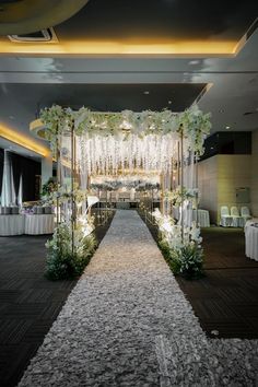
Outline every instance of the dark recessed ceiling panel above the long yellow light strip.
{"type": "Polygon", "coordinates": [[[257,10],[257,2],[248,0],[91,0],[55,30],[60,40],[237,43],[257,10]]]}

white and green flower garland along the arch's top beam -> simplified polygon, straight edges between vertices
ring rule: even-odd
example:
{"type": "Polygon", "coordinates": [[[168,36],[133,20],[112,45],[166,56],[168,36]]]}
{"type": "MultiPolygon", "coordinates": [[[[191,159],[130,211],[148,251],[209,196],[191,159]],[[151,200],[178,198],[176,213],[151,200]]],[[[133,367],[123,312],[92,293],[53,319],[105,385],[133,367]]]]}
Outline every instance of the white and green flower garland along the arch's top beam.
{"type": "Polygon", "coordinates": [[[188,148],[197,155],[203,153],[203,142],[210,132],[210,114],[203,114],[197,105],[183,113],[171,110],[134,113],[96,113],[86,107],[78,112],[54,105],[40,110],[40,119],[46,127],[46,139],[50,141],[51,149],[56,150],[59,134],[74,128],[77,136],[119,136],[126,140],[128,136],[136,134],[143,138],[149,134],[166,136],[175,133],[187,140],[188,148]]]}

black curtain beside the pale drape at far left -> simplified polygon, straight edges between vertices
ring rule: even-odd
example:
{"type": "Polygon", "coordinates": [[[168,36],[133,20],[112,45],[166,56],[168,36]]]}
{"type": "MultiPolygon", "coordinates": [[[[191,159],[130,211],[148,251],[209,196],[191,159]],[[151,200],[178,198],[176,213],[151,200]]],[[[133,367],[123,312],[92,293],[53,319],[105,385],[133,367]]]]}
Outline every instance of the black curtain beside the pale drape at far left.
{"type": "Polygon", "coordinates": [[[10,162],[13,171],[14,188],[17,195],[20,176],[23,178],[23,201],[33,201],[38,199],[37,180],[40,175],[40,163],[21,156],[16,153],[10,153],[10,162]]]}

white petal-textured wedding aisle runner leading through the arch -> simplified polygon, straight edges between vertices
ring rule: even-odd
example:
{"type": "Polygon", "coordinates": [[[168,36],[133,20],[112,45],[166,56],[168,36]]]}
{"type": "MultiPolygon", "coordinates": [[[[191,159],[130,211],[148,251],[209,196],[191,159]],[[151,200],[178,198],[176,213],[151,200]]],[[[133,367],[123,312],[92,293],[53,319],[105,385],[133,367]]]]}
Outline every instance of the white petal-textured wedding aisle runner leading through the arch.
{"type": "Polygon", "coordinates": [[[255,340],[209,340],[136,211],[117,211],[30,386],[255,386],[255,340]]]}

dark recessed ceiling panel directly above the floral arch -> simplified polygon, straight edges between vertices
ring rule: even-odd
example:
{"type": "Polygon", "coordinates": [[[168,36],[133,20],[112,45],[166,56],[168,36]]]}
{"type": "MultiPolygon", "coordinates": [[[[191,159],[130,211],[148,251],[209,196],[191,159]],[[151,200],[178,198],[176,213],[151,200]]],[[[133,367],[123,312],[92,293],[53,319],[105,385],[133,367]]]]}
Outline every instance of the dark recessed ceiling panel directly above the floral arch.
{"type": "Polygon", "coordinates": [[[40,108],[50,107],[54,103],[73,109],[84,105],[96,112],[162,110],[171,108],[173,104],[174,112],[183,112],[198,98],[204,87],[206,84],[202,83],[12,83],[0,86],[0,101],[3,102],[4,98],[23,101],[31,116],[37,115],[40,108]]]}

